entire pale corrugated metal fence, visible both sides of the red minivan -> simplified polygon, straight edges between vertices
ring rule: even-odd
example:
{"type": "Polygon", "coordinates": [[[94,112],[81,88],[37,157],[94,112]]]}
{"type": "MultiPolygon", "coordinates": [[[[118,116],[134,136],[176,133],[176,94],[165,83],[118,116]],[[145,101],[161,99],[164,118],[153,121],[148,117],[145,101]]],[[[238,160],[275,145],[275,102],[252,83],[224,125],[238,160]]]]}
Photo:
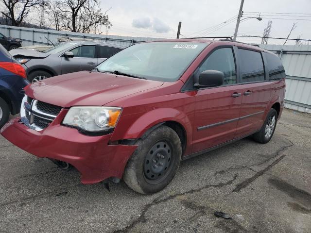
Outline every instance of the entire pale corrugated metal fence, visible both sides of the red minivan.
{"type": "MultiPolygon", "coordinates": [[[[23,46],[47,45],[47,38],[53,43],[58,37],[70,36],[72,38],[97,39],[104,42],[131,45],[160,38],[131,37],[117,35],[99,35],[87,33],[71,33],[55,30],[32,29],[0,25],[0,33],[6,36],[20,38],[23,46]]],[[[286,71],[285,107],[301,112],[311,112],[311,45],[282,46],[259,45],[261,48],[271,50],[281,57],[286,71]]]]}

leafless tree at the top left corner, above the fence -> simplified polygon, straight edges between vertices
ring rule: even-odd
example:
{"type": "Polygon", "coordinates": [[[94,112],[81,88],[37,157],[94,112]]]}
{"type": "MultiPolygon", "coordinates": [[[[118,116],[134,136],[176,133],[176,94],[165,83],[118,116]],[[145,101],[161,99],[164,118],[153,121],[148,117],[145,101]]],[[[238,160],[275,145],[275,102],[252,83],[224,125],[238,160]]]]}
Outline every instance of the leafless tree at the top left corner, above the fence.
{"type": "Polygon", "coordinates": [[[12,26],[21,26],[30,9],[41,3],[41,0],[0,0],[4,5],[1,9],[3,17],[11,21],[12,26]]]}

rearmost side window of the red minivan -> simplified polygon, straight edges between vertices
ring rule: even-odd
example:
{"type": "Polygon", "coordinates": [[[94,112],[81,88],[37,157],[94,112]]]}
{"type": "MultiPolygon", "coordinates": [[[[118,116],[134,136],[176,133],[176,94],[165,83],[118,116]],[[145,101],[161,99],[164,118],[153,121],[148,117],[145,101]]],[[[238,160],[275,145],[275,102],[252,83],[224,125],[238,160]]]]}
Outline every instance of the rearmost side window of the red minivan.
{"type": "Polygon", "coordinates": [[[281,60],[274,54],[264,53],[269,71],[269,80],[277,80],[285,77],[285,70],[281,60]]]}

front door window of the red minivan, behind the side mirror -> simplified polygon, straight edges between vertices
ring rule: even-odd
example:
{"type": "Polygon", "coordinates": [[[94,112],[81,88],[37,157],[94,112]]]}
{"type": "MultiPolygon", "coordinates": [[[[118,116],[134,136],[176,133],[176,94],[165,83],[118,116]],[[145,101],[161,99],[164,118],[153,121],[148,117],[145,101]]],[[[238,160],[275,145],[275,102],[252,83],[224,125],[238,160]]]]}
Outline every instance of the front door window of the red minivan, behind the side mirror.
{"type": "Polygon", "coordinates": [[[224,84],[236,83],[236,71],[233,57],[233,51],[231,48],[218,49],[214,51],[203,64],[196,71],[195,75],[200,75],[201,72],[214,69],[222,71],[225,75],[224,84]]]}

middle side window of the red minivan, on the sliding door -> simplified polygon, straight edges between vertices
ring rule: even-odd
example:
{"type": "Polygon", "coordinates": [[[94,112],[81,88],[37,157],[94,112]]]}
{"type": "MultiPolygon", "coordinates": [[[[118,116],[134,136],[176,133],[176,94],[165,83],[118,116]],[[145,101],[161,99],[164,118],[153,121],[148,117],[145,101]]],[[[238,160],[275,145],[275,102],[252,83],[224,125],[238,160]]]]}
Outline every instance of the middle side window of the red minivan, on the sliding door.
{"type": "Polygon", "coordinates": [[[264,81],[264,69],[260,52],[239,49],[241,82],[264,81]]]}

